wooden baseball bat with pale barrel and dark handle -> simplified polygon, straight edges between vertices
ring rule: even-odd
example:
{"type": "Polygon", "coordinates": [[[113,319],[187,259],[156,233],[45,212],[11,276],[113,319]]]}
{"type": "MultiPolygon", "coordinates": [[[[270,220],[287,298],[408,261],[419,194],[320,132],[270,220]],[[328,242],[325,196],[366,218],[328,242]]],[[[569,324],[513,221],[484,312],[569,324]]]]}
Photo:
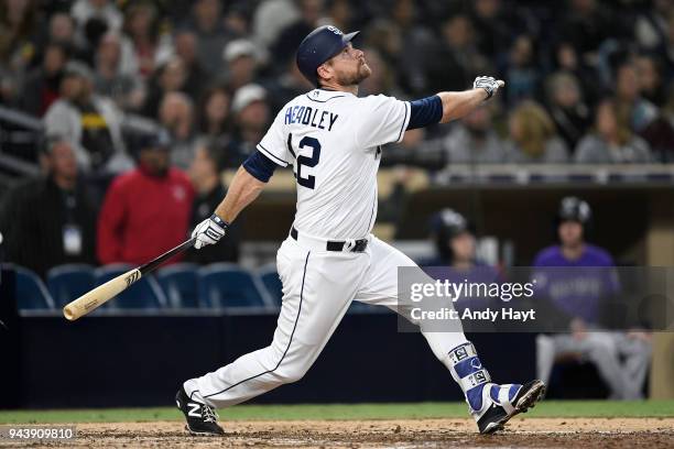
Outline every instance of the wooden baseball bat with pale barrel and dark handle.
{"type": "Polygon", "coordinates": [[[129,288],[142,276],[152,273],[157,266],[166,262],[168,259],[194,247],[194,242],[195,239],[189,239],[178,244],[174,249],[166,251],[162,255],[151,260],[150,262],[133,270],[129,270],[124,274],[120,274],[113,280],[110,280],[93,291],[85,293],[63,308],[63,316],[66,317],[66,319],[74,321],[77,318],[87,315],[89,311],[104,305],[115,296],[122,293],[124,289],[129,288]]]}

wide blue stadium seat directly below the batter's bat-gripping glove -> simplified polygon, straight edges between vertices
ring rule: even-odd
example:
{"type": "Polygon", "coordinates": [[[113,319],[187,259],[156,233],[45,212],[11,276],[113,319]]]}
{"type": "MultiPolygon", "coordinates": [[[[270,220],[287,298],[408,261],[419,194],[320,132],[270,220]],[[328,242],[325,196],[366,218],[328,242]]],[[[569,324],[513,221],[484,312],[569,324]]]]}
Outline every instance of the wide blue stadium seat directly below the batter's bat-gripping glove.
{"type": "Polygon", "coordinates": [[[273,307],[262,282],[232,263],[214,263],[199,270],[199,306],[211,308],[273,307]]]}

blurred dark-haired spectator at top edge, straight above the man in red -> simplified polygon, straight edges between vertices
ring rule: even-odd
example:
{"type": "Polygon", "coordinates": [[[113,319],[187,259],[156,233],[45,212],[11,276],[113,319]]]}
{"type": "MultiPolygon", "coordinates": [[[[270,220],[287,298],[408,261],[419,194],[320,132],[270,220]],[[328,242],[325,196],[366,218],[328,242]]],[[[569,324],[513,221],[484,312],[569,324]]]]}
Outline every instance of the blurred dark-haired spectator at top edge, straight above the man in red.
{"type": "Polygon", "coordinates": [[[154,72],[160,35],[154,6],[146,1],[130,4],[126,11],[123,31],[131,41],[138,62],[138,74],[148,78],[154,72]]]}

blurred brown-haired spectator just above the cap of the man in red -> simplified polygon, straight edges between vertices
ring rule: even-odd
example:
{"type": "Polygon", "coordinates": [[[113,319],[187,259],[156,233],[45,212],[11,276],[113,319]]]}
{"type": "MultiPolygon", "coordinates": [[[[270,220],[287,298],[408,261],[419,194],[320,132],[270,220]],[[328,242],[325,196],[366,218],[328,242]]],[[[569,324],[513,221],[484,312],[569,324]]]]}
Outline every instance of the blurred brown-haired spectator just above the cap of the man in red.
{"type": "Polygon", "coordinates": [[[168,92],[160,106],[160,123],[171,136],[171,164],[187,169],[194,158],[194,105],[182,92],[168,92]]]}

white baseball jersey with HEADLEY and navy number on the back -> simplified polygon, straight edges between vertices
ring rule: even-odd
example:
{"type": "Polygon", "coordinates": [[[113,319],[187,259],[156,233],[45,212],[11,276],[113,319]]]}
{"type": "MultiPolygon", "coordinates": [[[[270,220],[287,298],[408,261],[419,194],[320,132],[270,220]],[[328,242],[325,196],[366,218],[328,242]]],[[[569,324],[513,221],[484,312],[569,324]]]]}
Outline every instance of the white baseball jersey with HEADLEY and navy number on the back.
{"type": "Polygon", "coordinates": [[[331,239],[361,239],[377,218],[381,145],[402,140],[410,103],[383,95],[315,89],[285,105],[258,145],[297,179],[295,228],[331,239]]]}

